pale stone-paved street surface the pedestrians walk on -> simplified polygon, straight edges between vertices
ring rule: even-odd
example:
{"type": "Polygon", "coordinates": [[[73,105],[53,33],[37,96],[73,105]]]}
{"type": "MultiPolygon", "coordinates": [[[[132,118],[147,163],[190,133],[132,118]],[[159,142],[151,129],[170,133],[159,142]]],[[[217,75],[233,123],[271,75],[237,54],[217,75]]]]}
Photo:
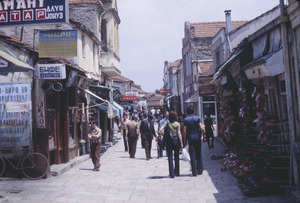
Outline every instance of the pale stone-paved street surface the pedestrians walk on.
{"type": "Polygon", "coordinates": [[[181,160],[181,176],[170,179],[167,158],[157,159],[154,141],[153,159],[146,161],[140,140],[136,158],[130,159],[120,139],[102,155],[100,172],[88,159],[48,179],[0,179],[0,202],[290,202],[288,195],[243,196],[230,172],[221,172],[219,161],[210,160],[211,153],[224,150],[220,142],[215,146],[203,145],[203,175],[191,177],[189,163],[181,160]]]}

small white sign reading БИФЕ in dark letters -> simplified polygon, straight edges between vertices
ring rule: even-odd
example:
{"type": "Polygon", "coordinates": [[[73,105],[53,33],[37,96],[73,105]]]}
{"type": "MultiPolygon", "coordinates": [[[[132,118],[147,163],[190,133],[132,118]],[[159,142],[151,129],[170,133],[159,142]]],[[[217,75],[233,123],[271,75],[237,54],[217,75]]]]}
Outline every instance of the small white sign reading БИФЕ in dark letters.
{"type": "Polygon", "coordinates": [[[38,64],[37,76],[39,79],[65,79],[65,64],[38,64]]]}

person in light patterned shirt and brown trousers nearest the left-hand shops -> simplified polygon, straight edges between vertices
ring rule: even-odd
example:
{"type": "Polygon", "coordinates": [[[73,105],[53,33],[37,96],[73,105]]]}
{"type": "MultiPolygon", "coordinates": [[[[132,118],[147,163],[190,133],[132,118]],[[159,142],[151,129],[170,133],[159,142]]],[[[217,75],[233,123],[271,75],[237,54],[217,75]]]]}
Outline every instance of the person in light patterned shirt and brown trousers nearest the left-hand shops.
{"type": "Polygon", "coordinates": [[[88,134],[90,140],[91,158],[94,164],[94,171],[100,170],[100,144],[102,131],[97,126],[97,121],[91,123],[91,129],[88,134]]]}

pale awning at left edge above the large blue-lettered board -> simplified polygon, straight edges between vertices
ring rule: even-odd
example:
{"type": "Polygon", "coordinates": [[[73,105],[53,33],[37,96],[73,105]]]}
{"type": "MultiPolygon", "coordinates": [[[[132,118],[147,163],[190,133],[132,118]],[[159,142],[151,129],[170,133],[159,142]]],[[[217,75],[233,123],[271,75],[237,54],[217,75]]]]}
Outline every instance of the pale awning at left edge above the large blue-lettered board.
{"type": "Polygon", "coordinates": [[[6,47],[1,45],[0,58],[9,62],[7,67],[0,67],[0,72],[27,72],[34,70],[28,63],[17,59],[6,47]]]}

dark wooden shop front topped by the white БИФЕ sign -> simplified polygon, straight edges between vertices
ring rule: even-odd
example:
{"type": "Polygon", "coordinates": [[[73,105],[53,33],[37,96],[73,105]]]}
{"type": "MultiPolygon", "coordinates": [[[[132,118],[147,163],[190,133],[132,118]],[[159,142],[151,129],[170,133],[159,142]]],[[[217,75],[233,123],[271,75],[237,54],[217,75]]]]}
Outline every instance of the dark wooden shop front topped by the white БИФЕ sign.
{"type": "Polygon", "coordinates": [[[82,154],[79,141],[85,139],[82,107],[86,106],[86,98],[77,87],[79,75],[83,77],[84,73],[68,64],[42,64],[37,69],[35,136],[51,165],[67,163],[82,154]],[[45,67],[47,74],[41,71],[45,67]],[[49,67],[56,67],[57,73],[49,74],[49,67]]]}

